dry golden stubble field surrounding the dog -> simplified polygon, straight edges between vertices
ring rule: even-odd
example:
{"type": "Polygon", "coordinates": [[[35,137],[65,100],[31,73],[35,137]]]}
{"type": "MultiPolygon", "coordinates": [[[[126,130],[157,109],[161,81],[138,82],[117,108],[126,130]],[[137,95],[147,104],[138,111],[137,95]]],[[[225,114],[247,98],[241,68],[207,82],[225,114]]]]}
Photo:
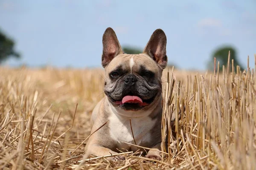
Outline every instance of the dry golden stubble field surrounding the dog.
{"type": "Polygon", "coordinates": [[[156,162],[139,151],[121,153],[125,161],[81,161],[90,113],[104,95],[103,70],[0,68],[0,169],[254,170],[256,76],[232,61],[230,68],[166,69],[162,134],[169,147],[156,162]],[[172,114],[180,117],[174,136],[166,134],[172,114]]]}

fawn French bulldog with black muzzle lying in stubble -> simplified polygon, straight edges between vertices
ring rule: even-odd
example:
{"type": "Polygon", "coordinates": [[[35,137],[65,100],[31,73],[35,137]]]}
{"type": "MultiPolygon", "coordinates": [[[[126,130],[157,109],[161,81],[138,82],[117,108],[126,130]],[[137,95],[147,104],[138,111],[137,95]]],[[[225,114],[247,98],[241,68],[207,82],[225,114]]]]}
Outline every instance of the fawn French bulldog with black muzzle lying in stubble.
{"type": "MultiPolygon", "coordinates": [[[[167,65],[166,34],[157,29],[142,54],[124,54],[112,28],[102,37],[105,97],[93,109],[87,156],[107,156],[136,151],[160,159],[162,121],[162,72],[167,65]],[[131,125],[130,125],[131,119],[131,125]],[[131,130],[132,127],[132,130],[131,130]],[[133,137],[134,136],[134,137],[133,137]],[[134,141],[135,140],[135,141],[134,141]],[[129,143],[129,144],[127,144],[129,143]]],[[[124,159],[118,156],[118,159],[124,159]]]]}

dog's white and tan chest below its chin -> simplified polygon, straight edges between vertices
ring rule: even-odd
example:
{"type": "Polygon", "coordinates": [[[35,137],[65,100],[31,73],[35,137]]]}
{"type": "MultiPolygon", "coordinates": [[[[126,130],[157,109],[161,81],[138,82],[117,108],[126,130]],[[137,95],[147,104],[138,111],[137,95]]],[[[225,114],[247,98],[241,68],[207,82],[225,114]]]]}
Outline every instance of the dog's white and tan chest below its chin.
{"type": "MultiPolygon", "coordinates": [[[[129,146],[123,142],[135,144],[134,139],[137,145],[142,146],[152,141],[154,136],[151,134],[151,129],[155,123],[156,120],[152,120],[150,117],[143,117],[131,118],[130,125],[130,119],[120,119],[115,114],[112,114],[109,117],[110,135],[121,148],[129,149],[129,146]]],[[[137,147],[133,146],[131,148],[137,149],[137,147]]]]}

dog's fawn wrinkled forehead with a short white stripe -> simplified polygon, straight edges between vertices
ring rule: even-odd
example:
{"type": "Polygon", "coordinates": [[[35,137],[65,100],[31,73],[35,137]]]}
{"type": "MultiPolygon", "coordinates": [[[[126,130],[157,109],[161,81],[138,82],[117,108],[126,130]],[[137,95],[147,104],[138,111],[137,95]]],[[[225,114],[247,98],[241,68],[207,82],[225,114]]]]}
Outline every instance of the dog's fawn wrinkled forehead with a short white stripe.
{"type": "Polygon", "coordinates": [[[140,72],[141,69],[157,73],[159,67],[147,54],[120,54],[109,63],[107,72],[122,69],[131,73],[140,72]]]}

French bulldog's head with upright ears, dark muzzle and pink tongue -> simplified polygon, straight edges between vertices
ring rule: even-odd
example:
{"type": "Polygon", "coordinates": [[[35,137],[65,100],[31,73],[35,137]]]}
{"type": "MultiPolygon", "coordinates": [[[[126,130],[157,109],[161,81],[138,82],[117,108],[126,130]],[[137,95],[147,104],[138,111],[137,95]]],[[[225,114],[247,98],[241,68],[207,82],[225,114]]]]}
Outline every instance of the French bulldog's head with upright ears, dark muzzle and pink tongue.
{"type": "Polygon", "coordinates": [[[112,28],[103,34],[104,92],[112,105],[124,111],[141,111],[159,102],[162,72],[166,68],[166,35],[157,29],[142,54],[124,54],[112,28]]]}

